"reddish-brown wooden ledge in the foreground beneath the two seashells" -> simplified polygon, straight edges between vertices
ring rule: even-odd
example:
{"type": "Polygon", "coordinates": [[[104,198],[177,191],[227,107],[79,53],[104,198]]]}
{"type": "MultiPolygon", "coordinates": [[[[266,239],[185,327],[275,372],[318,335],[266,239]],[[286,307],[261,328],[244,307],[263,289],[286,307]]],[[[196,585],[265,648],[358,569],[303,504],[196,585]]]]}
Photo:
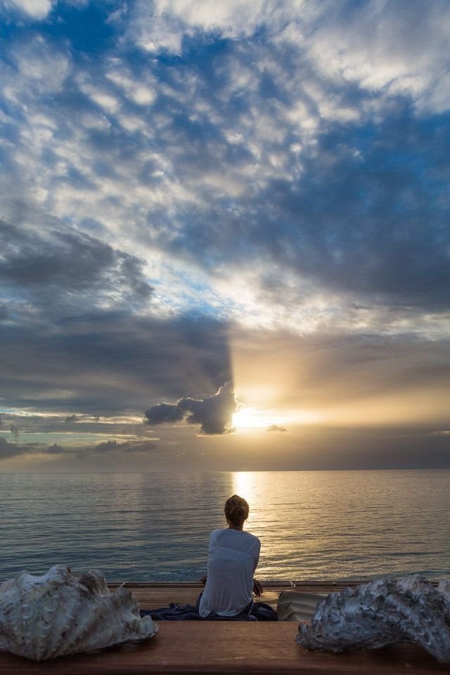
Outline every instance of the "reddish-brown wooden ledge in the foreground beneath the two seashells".
{"type": "Polygon", "coordinates": [[[34,663],[0,653],[0,675],[431,675],[449,672],[416,645],[334,655],[295,643],[297,622],[160,622],[154,638],[34,663]]]}

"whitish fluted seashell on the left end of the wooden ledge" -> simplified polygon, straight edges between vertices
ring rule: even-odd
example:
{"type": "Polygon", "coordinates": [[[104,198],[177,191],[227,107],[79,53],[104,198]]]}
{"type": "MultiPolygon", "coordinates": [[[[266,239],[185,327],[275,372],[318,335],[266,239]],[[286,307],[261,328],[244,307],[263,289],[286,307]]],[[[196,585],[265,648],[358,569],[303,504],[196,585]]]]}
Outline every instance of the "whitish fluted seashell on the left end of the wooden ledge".
{"type": "Polygon", "coordinates": [[[98,570],[55,565],[42,577],[20,572],[0,586],[0,650],[35,661],[145,640],[159,626],[139,616],[128,589],[111,593],[98,570]]]}

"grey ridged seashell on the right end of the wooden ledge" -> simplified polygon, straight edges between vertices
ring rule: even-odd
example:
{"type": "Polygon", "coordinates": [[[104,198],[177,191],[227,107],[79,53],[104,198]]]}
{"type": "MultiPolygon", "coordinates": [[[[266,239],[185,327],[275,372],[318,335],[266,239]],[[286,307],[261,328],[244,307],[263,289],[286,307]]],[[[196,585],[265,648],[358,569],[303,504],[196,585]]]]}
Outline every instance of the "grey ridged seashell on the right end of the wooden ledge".
{"type": "Polygon", "coordinates": [[[436,589],[420,574],[409,574],[330,593],[297,635],[302,647],[330,652],[398,642],[421,645],[440,663],[450,663],[450,581],[436,589]]]}

